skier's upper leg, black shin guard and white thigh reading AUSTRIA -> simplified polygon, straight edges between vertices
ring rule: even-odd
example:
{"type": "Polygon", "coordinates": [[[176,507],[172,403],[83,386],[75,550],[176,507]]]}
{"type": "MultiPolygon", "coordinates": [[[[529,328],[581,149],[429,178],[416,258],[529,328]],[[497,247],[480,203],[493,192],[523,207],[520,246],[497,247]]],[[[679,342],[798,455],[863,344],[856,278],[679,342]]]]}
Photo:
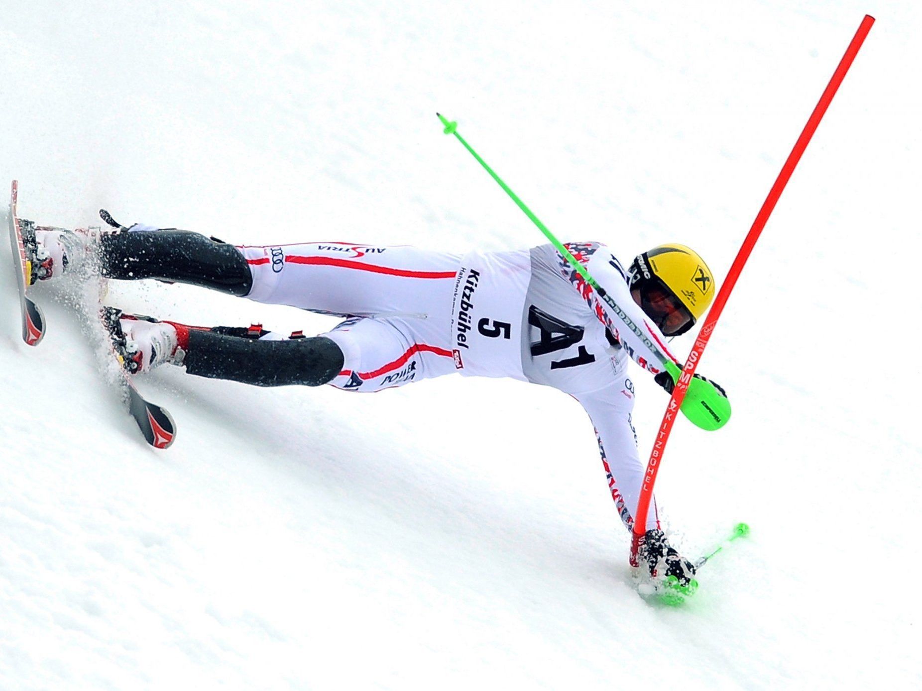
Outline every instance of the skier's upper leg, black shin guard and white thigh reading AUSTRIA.
{"type": "Polygon", "coordinates": [[[190,283],[341,316],[426,318],[450,302],[460,262],[408,246],[235,247],[187,230],[143,228],[102,237],[103,275],[190,283]]]}

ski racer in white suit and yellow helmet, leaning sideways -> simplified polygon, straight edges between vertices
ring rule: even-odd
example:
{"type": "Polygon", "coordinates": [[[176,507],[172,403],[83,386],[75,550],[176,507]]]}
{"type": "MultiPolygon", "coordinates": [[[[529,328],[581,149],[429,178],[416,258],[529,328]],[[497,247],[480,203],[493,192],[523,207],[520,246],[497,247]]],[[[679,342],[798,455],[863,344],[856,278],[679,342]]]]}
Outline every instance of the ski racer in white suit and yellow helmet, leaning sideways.
{"type": "MultiPolygon", "coordinates": [[[[571,394],[592,420],[611,496],[632,530],[644,466],[632,425],[628,361],[667,392],[674,381],[660,356],[551,245],[463,256],[332,241],[234,246],[175,228],[124,228],[102,216],[115,230],[92,242],[61,228],[30,227],[30,281],[73,271],[91,248],[108,278],[187,283],[345,318],[312,337],[116,312],[132,373],[170,363],[189,374],[257,386],[331,384],[351,392],[455,372],[551,386],[571,394]]],[[[638,255],[625,270],[598,242],[566,247],[678,364],[667,337],[691,329],[715,294],[702,258],[666,244],[638,255]]],[[[655,502],[645,531],[639,554],[650,574],[688,583],[695,568],[668,545],[655,502]]]]}

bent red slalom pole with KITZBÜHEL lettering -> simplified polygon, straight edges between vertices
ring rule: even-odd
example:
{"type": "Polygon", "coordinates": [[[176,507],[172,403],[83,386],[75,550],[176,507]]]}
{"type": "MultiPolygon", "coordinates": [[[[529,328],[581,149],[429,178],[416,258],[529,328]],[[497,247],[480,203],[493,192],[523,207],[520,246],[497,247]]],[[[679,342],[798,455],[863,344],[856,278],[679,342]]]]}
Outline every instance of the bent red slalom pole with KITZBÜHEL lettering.
{"type": "Polygon", "coordinates": [[[672,397],[669,399],[666,414],[663,416],[663,421],[659,426],[659,430],[656,432],[656,441],[653,444],[653,451],[650,453],[650,460],[646,464],[644,485],[641,486],[640,498],[637,500],[637,511],[634,513],[631,541],[632,567],[636,568],[640,564],[637,558],[637,551],[640,547],[641,538],[646,532],[646,516],[650,509],[650,499],[653,497],[653,486],[656,483],[656,474],[659,472],[659,463],[663,458],[663,451],[666,449],[666,442],[669,439],[669,433],[672,431],[672,425],[676,421],[676,415],[679,413],[682,401],[685,399],[685,393],[688,391],[689,384],[691,383],[691,375],[694,374],[695,368],[698,367],[698,363],[701,362],[704,348],[707,346],[707,342],[711,340],[711,335],[714,333],[714,327],[717,320],[720,318],[720,313],[727,304],[730,292],[736,285],[739,274],[743,270],[746,261],[749,259],[756,240],[759,240],[759,236],[762,234],[762,228],[765,228],[768,217],[772,215],[772,211],[774,210],[774,205],[777,204],[778,198],[781,196],[781,193],[784,192],[787,181],[790,180],[791,173],[794,172],[800,157],[803,156],[804,150],[807,148],[807,145],[810,144],[810,138],[813,136],[813,133],[816,132],[816,128],[822,120],[822,116],[825,114],[826,109],[829,108],[829,104],[832,102],[835,92],[838,90],[839,85],[842,84],[842,80],[845,78],[848,68],[851,67],[852,62],[855,60],[855,56],[861,48],[861,44],[864,43],[865,38],[867,38],[868,32],[873,24],[874,18],[870,15],[865,15],[865,18],[861,21],[861,26],[858,27],[855,33],[855,37],[852,39],[851,43],[848,44],[848,48],[845,50],[845,55],[843,55],[839,66],[835,68],[833,78],[829,80],[829,84],[822,92],[820,101],[816,104],[816,108],[813,109],[810,120],[807,121],[803,132],[801,132],[798,137],[797,143],[787,157],[785,165],[782,166],[781,172],[778,173],[778,177],[775,179],[771,191],[765,198],[765,202],[762,204],[759,214],[755,217],[752,228],[750,228],[746,240],[743,240],[742,247],[739,248],[739,252],[737,253],[737,258],[733,260],[733,265],[730,266],[730,270],[727,272],[724,285],[717,293],[714,305],[711,307],[711,311],[708,313],[707,319],[704,321],[701,331],[695,339],[694,346],[691,348],[691,353],[689,353],[688,360],[685,362],[685,367],[682,369],[679,381],[672,391],[672,397]]]}

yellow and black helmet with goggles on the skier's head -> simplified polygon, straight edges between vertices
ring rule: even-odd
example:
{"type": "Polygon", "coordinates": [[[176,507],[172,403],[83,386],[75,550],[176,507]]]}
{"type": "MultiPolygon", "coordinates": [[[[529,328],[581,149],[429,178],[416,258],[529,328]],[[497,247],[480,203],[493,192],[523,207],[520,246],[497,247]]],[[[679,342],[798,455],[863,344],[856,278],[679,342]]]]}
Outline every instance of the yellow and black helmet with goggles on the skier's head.
{"type": "Polygon", "coordinates": [[[630,278],[631,289],[640,291],[644,312],[668,336],[691,329],[716,292],[711,269],[697,252],[680,244],[659,245],[638,254],[630,278]]]}

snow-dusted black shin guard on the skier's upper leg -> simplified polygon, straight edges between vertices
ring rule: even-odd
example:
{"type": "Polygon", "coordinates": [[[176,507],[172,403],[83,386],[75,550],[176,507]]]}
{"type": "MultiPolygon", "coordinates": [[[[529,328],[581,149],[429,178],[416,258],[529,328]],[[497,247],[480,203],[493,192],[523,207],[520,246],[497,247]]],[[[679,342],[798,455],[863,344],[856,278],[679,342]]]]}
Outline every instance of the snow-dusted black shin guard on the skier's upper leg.
{"type": "Polygon", "coordinates": [[[188,230],[120,232],[102,236],[102,275],[156,278],[245,296],[253,274],[233,245],[188,230]]]}

